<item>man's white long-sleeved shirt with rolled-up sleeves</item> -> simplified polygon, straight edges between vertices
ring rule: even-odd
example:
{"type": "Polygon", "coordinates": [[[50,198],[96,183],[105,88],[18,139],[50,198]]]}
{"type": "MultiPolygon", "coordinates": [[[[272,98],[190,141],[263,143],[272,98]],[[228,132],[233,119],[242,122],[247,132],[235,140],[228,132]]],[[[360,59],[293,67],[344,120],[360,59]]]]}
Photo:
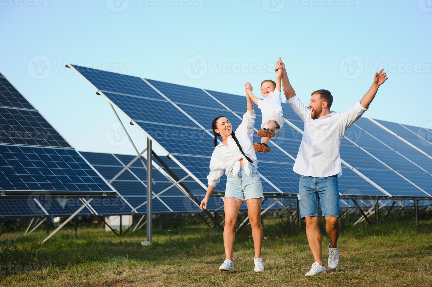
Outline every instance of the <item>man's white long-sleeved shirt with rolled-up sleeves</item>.
{"type": "Polygon", "coordinates": [[[368,110],[358,101],[345,112],[332,112],[316,120],[299,97],[286,101],[305,123],[302,143],[292,170],[308,177],[330,177],[342,175],[340,142],[346,129],[368,110]]]}

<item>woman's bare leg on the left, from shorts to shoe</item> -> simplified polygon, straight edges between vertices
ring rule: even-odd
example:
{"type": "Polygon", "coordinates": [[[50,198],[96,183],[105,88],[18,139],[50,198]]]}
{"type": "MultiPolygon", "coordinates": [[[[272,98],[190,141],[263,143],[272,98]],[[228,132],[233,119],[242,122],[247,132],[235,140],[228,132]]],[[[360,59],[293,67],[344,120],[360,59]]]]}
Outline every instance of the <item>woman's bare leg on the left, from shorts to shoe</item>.
{"type": "Polygon", "coordinates": [[[223,201],[225,211],[225,227],[223,229],[223,244],[225,246],[226,259],[232,260],[232,248],[234,246],[234,227],[237,222],[238,211],[243,201],[234,197],[226,197],[223,201]]]}

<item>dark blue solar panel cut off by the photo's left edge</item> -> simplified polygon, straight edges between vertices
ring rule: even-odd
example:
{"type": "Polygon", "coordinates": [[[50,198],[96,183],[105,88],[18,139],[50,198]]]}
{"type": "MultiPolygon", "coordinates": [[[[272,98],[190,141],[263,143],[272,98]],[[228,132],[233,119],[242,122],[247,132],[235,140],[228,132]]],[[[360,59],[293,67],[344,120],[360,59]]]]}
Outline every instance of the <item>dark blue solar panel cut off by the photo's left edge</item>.
{"type": "Polygon", "coordinates": [[[115,196],[95,170],[3,76],[0,133],[2,199],[37,194],[115,196]]]}

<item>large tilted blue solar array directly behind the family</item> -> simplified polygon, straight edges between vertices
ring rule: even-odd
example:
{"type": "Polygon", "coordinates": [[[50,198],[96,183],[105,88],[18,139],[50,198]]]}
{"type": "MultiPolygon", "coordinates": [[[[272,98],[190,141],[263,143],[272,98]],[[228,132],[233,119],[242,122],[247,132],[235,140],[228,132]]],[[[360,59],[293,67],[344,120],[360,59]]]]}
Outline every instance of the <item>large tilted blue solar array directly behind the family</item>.
{"type": "MultiPolygon", "coordinates": [[[[195,182],[190,180],[190,184],[197,194],[205,192],[213,151],[210,123],[213,118],[224,115],[234,127],[238,126],[245,112],[245,97],[81,66],[70,67],[156,141],[175,161],[173,165],[178,164],[184,173],[191,174],[195,182]]],[[[261,114],[256,106],[255,114],[255,126],[259,127],[261,114]]],[[[287,124],[270,142],[271,151],[257,154],[266,196],[298,194],[299,176],[292,171],[292,166],[302,139],[303,122],[285,103],[283,114],[287,124]]],[[[381,142],[372,135],[375,132],[381,137],[385,134],[380,126],[366,118],[347,130],[340,151],[346,163],[339,179],[342,196],[430,197],[432,160],[418,151],[413,152],[413,148],[394,136],[381,142]],[[389,148],[392,145],[394,148],[389,148]],[[410,159],[401,156],[403,152],[410,153],[410,159]]],[[[254,141],[259,140],[254,137],[254,141]]],[[[179,168],[176,170],[181,172],[179,168]]],[[[221,178],[216,193],[223,193],[225,180],[221,178]]]]}

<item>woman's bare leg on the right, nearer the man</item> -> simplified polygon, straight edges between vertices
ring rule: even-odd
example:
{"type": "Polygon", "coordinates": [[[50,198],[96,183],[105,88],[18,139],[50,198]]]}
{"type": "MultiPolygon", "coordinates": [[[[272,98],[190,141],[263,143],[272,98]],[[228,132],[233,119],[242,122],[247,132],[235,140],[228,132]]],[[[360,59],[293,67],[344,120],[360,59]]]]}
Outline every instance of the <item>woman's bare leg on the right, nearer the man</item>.
{"type": "Polygon", "coordinates": [[[262,198],[251,198],[246,200],[248,205],[249,222],[252,228],[252,238],[254,239],[255,257],[261,257],[261,245],[264,238],[264,230],[261,225],[261,201],[262,198]]]}

